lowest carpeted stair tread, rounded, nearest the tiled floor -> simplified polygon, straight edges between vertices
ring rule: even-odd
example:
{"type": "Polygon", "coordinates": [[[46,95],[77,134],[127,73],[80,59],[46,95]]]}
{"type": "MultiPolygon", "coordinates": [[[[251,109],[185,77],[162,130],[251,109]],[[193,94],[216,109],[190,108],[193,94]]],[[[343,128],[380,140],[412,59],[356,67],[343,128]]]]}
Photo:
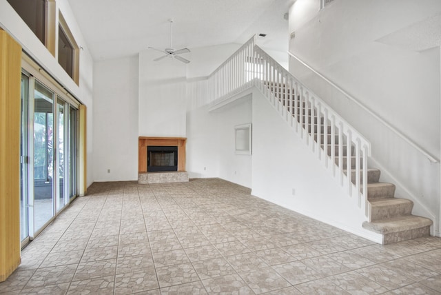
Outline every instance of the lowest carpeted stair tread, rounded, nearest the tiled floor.
{"type": "Polygon", "coordinates": [[[407,215],[394,218],[387,218],[378,221],[365,221],[363,227],[378,234],[390,234],[393,232],[404,232],[407,230],[416,230],[421,227],[432,225],[429,218],[407,215]]]}

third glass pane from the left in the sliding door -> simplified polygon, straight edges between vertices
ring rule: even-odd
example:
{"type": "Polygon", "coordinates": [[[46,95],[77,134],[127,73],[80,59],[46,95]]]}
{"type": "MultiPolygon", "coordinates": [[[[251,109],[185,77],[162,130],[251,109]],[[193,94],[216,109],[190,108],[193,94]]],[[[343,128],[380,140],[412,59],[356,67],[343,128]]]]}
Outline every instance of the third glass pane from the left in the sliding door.
{"type": "Polygon", "coordinates": [[[58,182],[56,183],[58,200],[57,200],[57,212],[65,205],[65,192],[64,192],[64,174],[65,174],[65,102],[61,99],[57,99],[57,146],[56,149],[56,159],[57,165],[56,174],[58,175],[58,182]]]}

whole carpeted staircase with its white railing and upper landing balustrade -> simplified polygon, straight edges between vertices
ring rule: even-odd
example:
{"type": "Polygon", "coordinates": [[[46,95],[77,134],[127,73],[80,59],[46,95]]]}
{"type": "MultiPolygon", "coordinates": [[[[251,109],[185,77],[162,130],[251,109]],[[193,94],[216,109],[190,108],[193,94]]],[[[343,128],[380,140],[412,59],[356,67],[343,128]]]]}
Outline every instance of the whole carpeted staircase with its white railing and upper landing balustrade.
{"type": "Polygon", "coordinates": [[[356,198],[367,218],[362,227],[380,234],[382,244],[430,234],[432,221],[412,215],[413,202],[396,198],[395,185],[380,182],[380,170],[367,167],[369,141],[258,48],[254,37],[207,80],[203,96],[210,97],[212,103],[227,101],[247,88],[258,88],[347,194],[356,198]]]}

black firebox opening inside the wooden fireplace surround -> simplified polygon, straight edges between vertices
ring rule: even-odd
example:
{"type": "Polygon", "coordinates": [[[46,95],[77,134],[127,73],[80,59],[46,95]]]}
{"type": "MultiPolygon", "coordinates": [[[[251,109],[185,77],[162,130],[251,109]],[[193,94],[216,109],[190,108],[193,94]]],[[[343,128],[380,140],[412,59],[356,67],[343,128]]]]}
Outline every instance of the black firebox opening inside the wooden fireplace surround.
{"type": "Polygon", "coordinates": [[[147,146],[147,172],[178,171],[177,146],[147,146]]]}

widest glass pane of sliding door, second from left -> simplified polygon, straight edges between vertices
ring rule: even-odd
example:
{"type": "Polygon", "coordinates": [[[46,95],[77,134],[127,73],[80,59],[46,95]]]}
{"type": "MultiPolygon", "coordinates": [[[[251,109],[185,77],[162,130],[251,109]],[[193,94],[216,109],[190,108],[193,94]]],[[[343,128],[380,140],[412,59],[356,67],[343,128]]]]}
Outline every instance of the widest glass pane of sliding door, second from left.
{"type": "MultiPolygon", "coordinates": [[[[34,85],[34,232],[54,216],[54,92],[34,85]]],[[[57,173],[58,174],[58,173],[57,173]]],[[[56,175],[57,175],[56,174],[56,175]]]]}

